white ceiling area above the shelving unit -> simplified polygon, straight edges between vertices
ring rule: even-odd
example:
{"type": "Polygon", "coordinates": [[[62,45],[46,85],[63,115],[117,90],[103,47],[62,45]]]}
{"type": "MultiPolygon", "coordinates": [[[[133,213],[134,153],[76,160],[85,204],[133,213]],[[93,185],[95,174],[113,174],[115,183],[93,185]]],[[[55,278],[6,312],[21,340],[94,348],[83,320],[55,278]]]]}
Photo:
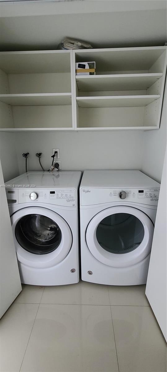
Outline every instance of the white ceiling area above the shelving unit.
{"type": "Polygon", "coordinates": [[[159,0],[0,2],[0,49],[57,49],[66,36],[96,48],[164,45],[166,5],[159,0]]]}

